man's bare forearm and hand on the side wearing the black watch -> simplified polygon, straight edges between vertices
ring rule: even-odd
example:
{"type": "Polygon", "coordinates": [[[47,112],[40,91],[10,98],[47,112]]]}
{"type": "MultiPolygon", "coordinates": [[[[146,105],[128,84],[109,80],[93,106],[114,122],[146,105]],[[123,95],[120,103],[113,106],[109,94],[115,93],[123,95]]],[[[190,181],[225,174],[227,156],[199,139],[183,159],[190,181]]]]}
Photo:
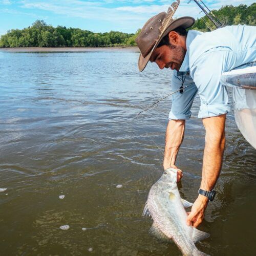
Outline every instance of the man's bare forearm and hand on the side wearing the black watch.
{"type": "MultiPolygon", "coordinates": [[[[200,188],[207,191],[214,188],[220,175],[225,147],[225,120],[226,114],[203,118],[206,134],[203,173],[200,188]]],[[[197,227],[203,221],[204,211],[207,204],[208,199],[202,195],[198,195],[198,198],[187,217],[188,225],[197,227]]]]}

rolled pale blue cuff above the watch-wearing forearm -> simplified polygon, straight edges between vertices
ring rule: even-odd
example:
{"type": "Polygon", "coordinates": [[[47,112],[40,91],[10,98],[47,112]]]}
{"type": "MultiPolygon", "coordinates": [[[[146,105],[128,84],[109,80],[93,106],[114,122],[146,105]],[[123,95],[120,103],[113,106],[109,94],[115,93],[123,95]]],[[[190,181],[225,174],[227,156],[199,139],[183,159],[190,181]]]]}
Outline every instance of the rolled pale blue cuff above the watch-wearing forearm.
{"type": "Polygon", "coordinates": [[[231,104],[214,104],[214,105],[203,104],[200,106],[200,110],[198,112],[198,118],[220,116],[230,112],[230,109],[231,109],[231,104]]]}

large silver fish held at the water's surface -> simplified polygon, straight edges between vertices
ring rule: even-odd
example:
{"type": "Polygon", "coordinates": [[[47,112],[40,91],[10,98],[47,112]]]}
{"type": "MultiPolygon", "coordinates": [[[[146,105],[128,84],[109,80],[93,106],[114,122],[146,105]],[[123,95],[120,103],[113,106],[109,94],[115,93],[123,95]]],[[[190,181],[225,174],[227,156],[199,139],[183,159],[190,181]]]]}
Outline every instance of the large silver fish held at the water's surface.
{"type": "Polygon", "coordinates": [[[177,170],[168,168],[151,187],[142,215],[153,219],[152,234],[161,240],[173,240],[183,255],[207,255],[199,251],[195,243],[208,238],[209,234],[186,224],[185,208],[192,205],[180,197],[177,170]]]}

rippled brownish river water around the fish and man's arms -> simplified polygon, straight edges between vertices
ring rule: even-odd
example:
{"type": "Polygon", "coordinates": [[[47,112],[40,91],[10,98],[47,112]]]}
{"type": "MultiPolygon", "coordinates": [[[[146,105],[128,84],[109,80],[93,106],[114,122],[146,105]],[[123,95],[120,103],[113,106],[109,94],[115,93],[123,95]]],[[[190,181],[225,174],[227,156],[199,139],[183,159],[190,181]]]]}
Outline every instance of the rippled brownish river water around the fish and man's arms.
{"type": "MultiPolygon", "coordinates": [[[[152,220],[141,216],[163,171],[170,99],[135,116],[171,91],[172,71],[151,64],[140,73],[138,55],[0,52],[1,255],[181,255],[152,237],[152,220]]],[[[201,177],[199,103],[177,159],[188,201],[201,177]]],[[[217,196],[199,227],[210,237],[197,247],[255,255],[255,151],[233,113],[226,138],[217,196]]]]}

